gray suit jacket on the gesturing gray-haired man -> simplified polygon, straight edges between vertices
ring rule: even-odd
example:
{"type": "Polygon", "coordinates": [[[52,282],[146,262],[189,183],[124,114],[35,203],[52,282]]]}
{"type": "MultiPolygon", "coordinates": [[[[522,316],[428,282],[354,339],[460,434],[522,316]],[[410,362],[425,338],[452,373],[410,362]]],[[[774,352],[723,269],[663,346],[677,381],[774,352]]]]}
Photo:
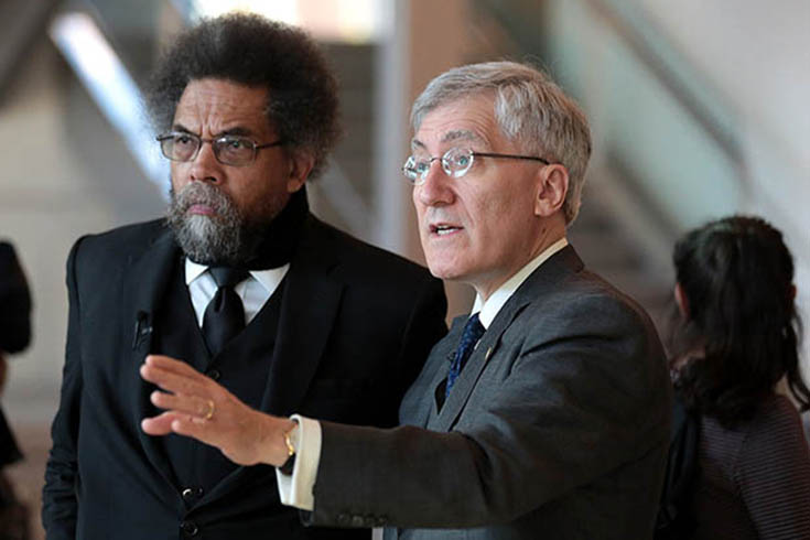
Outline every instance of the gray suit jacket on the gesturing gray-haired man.
{"type": "Polygon", "coordinates": [[[645,312],[565,248],[504,305],[439,411],[464,318],[402,426],[323,423],[306,519],[398,527],[387,539],[651,538],[671,395],[645,312]]]}

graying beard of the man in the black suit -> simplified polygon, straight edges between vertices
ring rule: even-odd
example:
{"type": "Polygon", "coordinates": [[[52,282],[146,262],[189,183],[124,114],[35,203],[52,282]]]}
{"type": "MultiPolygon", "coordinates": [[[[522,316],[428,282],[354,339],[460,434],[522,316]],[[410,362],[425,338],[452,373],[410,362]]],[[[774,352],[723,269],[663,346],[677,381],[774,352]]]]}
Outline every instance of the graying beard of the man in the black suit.
{"type": "Polygon", "coordinates": [[[246,241],[245,218],[234,202],[218,188],[204,182],[191,182],[180,193],[170,192],[166,222],[183,252],[201,264],[239,266],[252,252],[246,241]],[[188,214],[195,204],[205,204],[214,216],[188,214]]]}

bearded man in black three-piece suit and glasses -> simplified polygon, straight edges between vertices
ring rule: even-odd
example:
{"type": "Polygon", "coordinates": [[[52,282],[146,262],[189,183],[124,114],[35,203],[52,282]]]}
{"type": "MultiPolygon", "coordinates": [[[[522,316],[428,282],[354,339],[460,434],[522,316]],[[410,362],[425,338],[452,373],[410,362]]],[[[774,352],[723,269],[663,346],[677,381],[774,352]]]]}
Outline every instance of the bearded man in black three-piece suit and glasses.
{"type": "Polygon", "coordinates": [[[446,331],[441,282],[309,213],[304,184],[338,127],[333,76],[301,31],[205,21],[162,57],[148,101],[172,201],[165,220],[71,252],[47,538],[368,538],[304,530],[270,466],[143,433],[156,410],[138,370],[166,354],[255,409],[393,425],[446,331]]]}

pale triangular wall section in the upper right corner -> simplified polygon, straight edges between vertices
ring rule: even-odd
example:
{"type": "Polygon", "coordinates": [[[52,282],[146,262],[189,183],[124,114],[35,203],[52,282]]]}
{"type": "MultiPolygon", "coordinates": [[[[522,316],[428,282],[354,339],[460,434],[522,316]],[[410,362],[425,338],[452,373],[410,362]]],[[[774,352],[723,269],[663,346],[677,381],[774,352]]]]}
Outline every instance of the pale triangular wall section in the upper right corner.
{"type": "Polygon", "coordinates": [[[810,2],[634,0],[750,122],[810,171],[810,2]]]}

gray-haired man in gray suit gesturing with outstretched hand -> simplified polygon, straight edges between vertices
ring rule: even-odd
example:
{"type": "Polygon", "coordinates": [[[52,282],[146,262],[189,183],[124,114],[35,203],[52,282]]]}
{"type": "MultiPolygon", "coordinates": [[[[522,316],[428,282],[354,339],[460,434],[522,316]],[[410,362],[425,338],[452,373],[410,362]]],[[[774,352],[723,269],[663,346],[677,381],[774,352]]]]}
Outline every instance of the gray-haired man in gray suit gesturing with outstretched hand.
{"type": "Polygon", "coordinates": [[[428,266],[477,296],[406,395],[402,425],[268,417],[150,357],[141,374],[166,390],[151,396],[166,412],[143,429],[280,466],[282,501],[315,526],[386,526],[390,539],[650,538],[669,381],[645,312],[565,239],[591,152],[584,115],[544,74],[500,62],[436,77],[412,122],[403,171],[428,266]]]}

